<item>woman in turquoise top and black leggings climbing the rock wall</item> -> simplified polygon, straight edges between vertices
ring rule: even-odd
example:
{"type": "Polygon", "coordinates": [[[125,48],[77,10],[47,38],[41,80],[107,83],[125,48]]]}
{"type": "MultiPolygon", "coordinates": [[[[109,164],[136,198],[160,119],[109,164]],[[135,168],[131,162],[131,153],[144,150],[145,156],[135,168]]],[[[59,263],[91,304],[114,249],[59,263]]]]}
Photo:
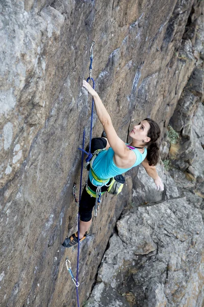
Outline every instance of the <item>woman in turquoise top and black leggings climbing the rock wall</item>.
{"type": "MultiPolygon", "coordinates": [[[[83,86],[93,96],[96,113],[104,127],[106,136],[105,138],[92,139],[91,152],[93,153],[96,149],[106,148],[106,150],[101,150],[98,153],[92,168],[98,178],[107,181],[105,183],[98,182],[93,178],[90,171],[87,184],[89,190],[96,191],[97,186],[102,185],[101,193],[107,191],[111,178],[141,163],[147,174],[154,179],[157,189],[163,191],[164,186],[155,167],[159,160],[159,146],[156,141],[161,133],[158,124],[154,120],[146,118],[138,125],[135,125],[129,134],[132,138],[131,148],[127,147],[127,144],[118,137],[110,115],[98,94],[85,80],[83,81],[83,86]]],[[[85,187],[80,202],[80,242],[86,238],[86,232],[91,225],[92,209],[96,200],[91,196],[85,187]]],[[[65,239],[63,246],[72,247],[77,243],[78,233],[74,233],[65,239]]]]}

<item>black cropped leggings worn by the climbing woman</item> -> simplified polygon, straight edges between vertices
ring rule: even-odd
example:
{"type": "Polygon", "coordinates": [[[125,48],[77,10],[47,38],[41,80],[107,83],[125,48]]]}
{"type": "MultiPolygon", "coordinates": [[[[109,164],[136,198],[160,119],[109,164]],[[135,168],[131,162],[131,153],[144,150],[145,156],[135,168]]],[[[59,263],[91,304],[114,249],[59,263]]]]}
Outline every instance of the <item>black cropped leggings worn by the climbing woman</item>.
{"type": "MultiPolygon", "coordinates": [[[[104,138],[94,138],[91,140],[91,153],[93,153],[96,149],[103,149],[107,145],[107,140],[104,138]]],[[[96,191],[96,186],[92,185],[88,180],[88,185],[92,191],[96,191]]],[[[108,187],[101,187],[101,192],[107,191],[108,187]]],[[[81,202],[80,202],[80,220],[83,222],[89,222],[92,217],[92,210],[95,206],[95,197],[91,197],[87,191],[86,187],[82,192],[81,202]]]]}

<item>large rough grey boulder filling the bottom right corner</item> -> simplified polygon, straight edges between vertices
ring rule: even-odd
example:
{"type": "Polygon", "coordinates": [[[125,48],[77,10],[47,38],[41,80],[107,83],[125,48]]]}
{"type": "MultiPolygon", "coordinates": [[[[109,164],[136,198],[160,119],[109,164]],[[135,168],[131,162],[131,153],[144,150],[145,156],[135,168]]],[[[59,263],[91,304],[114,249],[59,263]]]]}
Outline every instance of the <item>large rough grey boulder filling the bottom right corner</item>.
{"type": "Polygon", "coordinates": [[[204,227],[186,198],[132,209],[117,230],[88,307],[203,306],[204,227]]]}

